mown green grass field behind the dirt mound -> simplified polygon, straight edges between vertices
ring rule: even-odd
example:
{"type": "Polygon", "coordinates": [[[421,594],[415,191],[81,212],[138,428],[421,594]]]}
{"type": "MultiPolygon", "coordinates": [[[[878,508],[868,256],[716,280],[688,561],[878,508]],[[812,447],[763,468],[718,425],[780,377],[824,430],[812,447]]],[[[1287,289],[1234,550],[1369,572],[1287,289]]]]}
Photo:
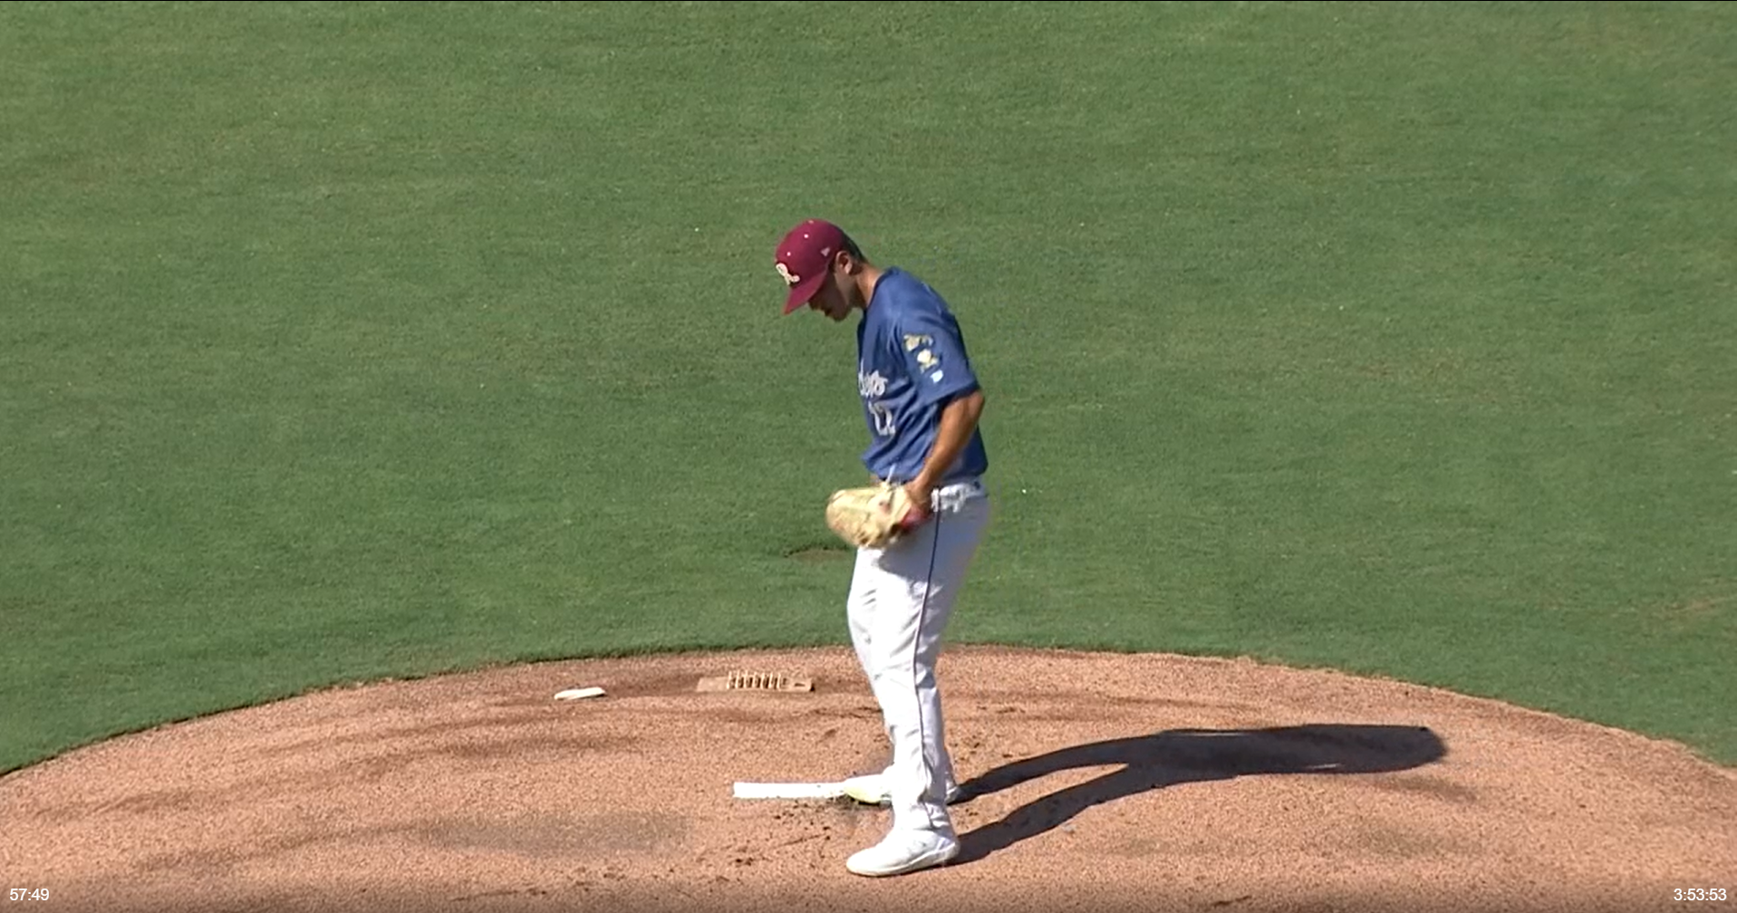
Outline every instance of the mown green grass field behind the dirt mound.
{"type": "Polygon", "coordinates": [[[849,326],[948,295],[959,642],[1737,764],[1737,12],[7,3],[0,771],[332,682],[844,642],[849,326]]]}

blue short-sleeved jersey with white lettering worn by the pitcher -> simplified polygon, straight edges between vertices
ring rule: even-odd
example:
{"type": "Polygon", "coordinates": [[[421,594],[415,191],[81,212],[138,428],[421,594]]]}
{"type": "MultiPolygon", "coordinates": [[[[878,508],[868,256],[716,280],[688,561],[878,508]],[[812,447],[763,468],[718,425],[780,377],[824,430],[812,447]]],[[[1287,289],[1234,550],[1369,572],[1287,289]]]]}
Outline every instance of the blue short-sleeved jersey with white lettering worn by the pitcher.
{"type": "MultiPolygon", "coordinates": [[[[875,477],[908,483],[922,470],[941,427],[941,408],[978,389],[959,321],[947,302],[915,276],[891,267],[856,325],[856,392],[868,422],[863,465],[875,477]]],[[[988,469],[976,429],[938,484],[988,469]]]]}

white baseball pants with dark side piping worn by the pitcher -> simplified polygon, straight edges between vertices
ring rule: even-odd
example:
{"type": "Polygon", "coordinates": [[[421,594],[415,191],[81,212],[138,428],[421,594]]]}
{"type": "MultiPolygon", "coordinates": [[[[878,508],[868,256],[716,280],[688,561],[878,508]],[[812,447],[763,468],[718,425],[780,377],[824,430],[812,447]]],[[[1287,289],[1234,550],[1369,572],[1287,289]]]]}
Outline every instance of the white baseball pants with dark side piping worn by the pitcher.
{"type": "Polygon", "coordinates": [[[955,779],[935,661],[990,502],[973,481],[936,489],[931,507],[933,516],[891,547],[858,548],[846,614],[893,746],[893,830],[952,835],[947,788],[955,779]]]}

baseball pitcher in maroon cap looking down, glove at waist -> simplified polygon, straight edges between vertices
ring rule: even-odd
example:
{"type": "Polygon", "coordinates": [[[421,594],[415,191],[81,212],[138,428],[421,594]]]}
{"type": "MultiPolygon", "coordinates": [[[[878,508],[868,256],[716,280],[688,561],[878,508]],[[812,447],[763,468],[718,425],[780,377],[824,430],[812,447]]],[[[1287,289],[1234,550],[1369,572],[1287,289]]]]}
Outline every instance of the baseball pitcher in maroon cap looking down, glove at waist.
{"type": "Polygon", "coordinates": [[[922,279],[875,267],[837,226],[809,219],[778,243],[801,307],[856,325],[856,392],[875,483],[837,491],[827,524],[856,547],[846,618],[893,748],[891,765],[846,783],[893,809],[882,842],[853,854],[858,875],[900,875],[959,854],[947,804],[957,785],[935,682],[941,634],[990,517],[983,389],[947,302],[922,279]]]}

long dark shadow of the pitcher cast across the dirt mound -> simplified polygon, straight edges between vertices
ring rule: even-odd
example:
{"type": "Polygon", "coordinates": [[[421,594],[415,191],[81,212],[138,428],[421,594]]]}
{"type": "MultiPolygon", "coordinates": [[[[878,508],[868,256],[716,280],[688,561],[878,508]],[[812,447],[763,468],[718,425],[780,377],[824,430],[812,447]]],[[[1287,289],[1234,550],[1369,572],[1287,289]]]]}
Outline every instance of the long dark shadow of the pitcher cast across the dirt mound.
{"type": "Polygon", "coordinates": [[[961,800],[1075,767],[1120,765],[1096,779],[1028,802],[959,835],[954,864],[971,863],[1061,826],[1082,811],[1174,786],[1254,774],[1376,774],[1440,760],[1442,739],[1417,726],[1310,724],[1275,729],[1169,729],[1094,741],[1016,760],[959,785],[961,800]]]}

